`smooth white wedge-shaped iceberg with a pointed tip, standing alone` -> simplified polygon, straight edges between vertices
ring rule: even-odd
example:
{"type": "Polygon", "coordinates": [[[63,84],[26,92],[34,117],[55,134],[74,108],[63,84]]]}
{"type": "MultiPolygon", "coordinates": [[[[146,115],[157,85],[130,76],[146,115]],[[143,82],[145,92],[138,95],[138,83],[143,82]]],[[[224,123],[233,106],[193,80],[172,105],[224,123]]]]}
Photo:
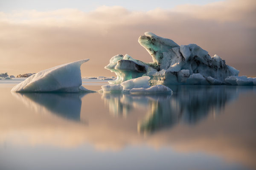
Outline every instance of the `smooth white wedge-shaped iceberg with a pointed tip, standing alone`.
{"type": "Polygon", "coordinates": [[[14,92],[92,92],[81,86],[80,66],[89,59],[58,65],[25,79],[17,84],[14,92]]]}

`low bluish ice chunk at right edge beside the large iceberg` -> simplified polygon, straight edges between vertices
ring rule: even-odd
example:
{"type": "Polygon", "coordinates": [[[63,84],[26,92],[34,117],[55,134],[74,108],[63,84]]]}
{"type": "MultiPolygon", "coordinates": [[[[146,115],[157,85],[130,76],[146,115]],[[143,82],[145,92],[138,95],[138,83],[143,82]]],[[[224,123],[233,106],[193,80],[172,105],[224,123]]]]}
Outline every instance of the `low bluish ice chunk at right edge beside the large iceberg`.
{"type": "Polygon", "coordinates": [[[247,76],[230,76],[225,79],[225,82],[231,85],[256,85],[256,78],[247,78],[247,76]]]}

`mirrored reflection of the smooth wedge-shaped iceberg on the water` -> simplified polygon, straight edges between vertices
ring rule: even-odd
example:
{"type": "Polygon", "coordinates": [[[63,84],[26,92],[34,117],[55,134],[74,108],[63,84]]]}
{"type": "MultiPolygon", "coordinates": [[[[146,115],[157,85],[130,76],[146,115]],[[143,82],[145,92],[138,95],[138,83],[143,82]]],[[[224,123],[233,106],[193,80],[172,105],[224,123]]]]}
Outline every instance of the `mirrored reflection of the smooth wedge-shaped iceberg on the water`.
{"type": "Polygon", "coordinates": [[[35,111],[48,110],[58,116],[80,121],[81,98],[86,93],[12,93],[35,111]]]}

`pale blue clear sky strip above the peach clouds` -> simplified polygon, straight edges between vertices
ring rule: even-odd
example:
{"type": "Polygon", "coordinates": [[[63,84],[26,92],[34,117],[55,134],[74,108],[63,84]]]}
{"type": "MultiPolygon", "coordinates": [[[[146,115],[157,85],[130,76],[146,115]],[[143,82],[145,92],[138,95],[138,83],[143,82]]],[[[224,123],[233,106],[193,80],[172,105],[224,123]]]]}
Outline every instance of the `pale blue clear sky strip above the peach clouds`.
{"type": "Polygon", "coordinates": [[[186,3],[205,5],[220,0],[8,0],[0,1],[0,11],[17,10],[49,11],[60,8],[76,8],[81,11],[92,11],[99,6],[123,6],[128,10],[148,11],[155,8],[170,9],[186,3]]]}

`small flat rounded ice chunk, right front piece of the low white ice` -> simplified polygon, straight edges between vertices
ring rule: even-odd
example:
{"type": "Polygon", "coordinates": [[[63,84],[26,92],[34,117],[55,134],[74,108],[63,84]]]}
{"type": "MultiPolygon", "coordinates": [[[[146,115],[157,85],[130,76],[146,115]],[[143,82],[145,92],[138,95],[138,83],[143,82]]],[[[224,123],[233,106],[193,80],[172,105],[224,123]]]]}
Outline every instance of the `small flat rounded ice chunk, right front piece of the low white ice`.
{"type": "Polygon", "coordinates": [[[170,93],[172,94],[172,90],[169,87],[164,85],[154,85],[150,88],[132,88],[130,90],[131,94],[141,94],[141,93],[170,93]]]}

